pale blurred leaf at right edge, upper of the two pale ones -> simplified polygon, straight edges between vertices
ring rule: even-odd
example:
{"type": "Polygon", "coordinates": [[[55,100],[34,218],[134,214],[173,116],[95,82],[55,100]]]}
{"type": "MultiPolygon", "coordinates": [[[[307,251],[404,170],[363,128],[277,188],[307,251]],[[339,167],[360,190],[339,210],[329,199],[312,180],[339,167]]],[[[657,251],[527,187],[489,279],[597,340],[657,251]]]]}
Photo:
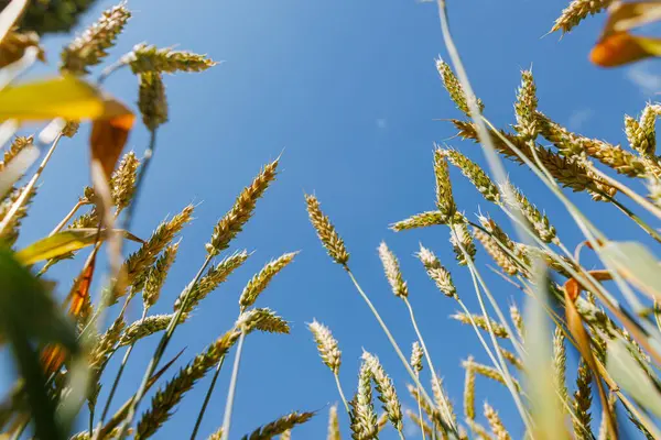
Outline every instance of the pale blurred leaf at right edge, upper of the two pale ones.
{"type": "Polygon", "coordinates": [[[659,260],[644,245],[638,242],[609,242],[599,251],[622,277],[650,297],[661,300],[659,260]]]}

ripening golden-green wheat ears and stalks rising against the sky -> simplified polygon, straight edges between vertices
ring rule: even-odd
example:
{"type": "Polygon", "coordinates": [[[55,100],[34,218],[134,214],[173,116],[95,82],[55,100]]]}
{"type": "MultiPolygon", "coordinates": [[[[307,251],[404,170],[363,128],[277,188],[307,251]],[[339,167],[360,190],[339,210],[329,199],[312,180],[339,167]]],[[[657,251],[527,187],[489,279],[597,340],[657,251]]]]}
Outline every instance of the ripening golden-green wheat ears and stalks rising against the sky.
{"type": "MultiPolygon", "coordinates": [[[[17,65],[24,69],[26,64],[23,62],[28,55],[31,55],[32,62],[43,58],[40,36],[68,31],[76,23],[77,15],[90,3],[84,0],[51,0],[34,1],[28,6],[18,26],[10,29],[0,43],[0,64],[6,69],[17,69],[17,65]]],[[[566,33],[586,16],[606,10],[610,3],[610,0],[573,0],[552,30],[566,33]]],[[[465,114],[464,119],[452,120],[452,123],[460,138],[481,145],[489,163],[489,173],[459,151],[436,145],[433,154],[435,209],[398,221],[391,229],[399,232],[447,227],[449,242],[456,254],[455,263],[467,270],[473,279],[478,312],[472,312],[464,304],[463,296],[470,293],[457,290],[447,262],[442,263],[422,244],[416,256],[441,293],[458,304],[463,312],[453,318],[475,330],[491,364],[478,363],[473,358],[463,362],[466,374],[464,415],[457,417],[452,398],[438,377],[440,372],[434,367],[432,353],[427,351],[419,331],[408,299],[409,288],[395,255],[386,243],[379,245],[378,253],[387,280],[392,293],[407,306],[418,337],[410,355],[400,348],[360,287],[351,272],[347,246],[322,211],[319,201],[315,196],[307,195],[305,202],[310,221],[321,243],[350,278],[388,337],[410,376],[408,389],[418,404],[418,410],[403,414],[393,382],[379,359],[368,352],[362,354],[357,389],[351,394],[345,393],[339,377],[339,343],[330,329],[315,320],[307,327],[323,363],[335,378],[340,402],[339,406],[329,409],[327,438],[340,439],[339,420],[347,420],[351,437],[361,440],[377,439],[388,425],[403,439],[404,424],[415,425],[423,439],[510,439],[510,433],[492,406],[484,404],[484,418],[476,411],[475,381],[477,376],[484,376],[507,388],[525,428],[525,438],[614,440],[636,429],[649,439],[661,439],[661,429],[657,424],[661,417],[661,382],[658,377],[658,367],[661,365],[661,311],[657,307],[657,298],[661,298],[661,285],[655,275],[658,261],[641,243],[608,240],[566,197],[563,189],[587,191],[595,202],[607,204],[621,212],[620,221],[633,221],[651,240],[661,242],[657,229],[646,220],[661,219],[661,157],[655,155],[655,119],[661,114],[661,106],[649,103],[639,118],[625,117],[630,148],[622,148],[572,133],[544,114],[538,107],[532,72],[524,70],[514,105],[516,124],[511,131],[499,130],[484,116],[485,105],[470,88],[452,38],[443,0],[438,1],[438,13],[451,64],[438,59],[435,67],[449,98],[465,114]],[[567,249],[561,239],[561,231],[554,228],[545,213],[507,179],[499,156],[529,168],[561,201],[568,215],[565,221],[575,223],[585,235],[585,241],[575,251],[567,249]],[[511,219],[517,240],[488,215],[480,213],[470,219],[464,213],[462,209],[467,207],[457,206],[453,197],[451,165],[460,170],[484,199],[491,204],[489,206],[511,219]],[[643,186],[638,187],[648,188],[648,194],[633,190],[624,177],[641,179],[643,186]],[[524,314],[514,305],[509,305],[509,310],[503,311],[491,294],[483,276],[484,267],[478,267],[476,262],[476,240],[497,264],[501,275],[523,293],[524,314]],[[582,266],[582,249],[583,252],[596,254],[604,268],[587,270],[582,266]],[[575,386],[567,385],[565,377],[566,350],[572,346],[579,353],[581,360],[575,386]],[[430,388],[421,378],[423,371],[429,371],[430,388]],[[382,411],[376,409],[375,394],[382,405],[382,411]],[[596,398],[593,400],[593,394],[598,396],[598,403],[596,398]],[[338,411],[346,411],[347,417],[338,417],[338,411]],[[628,420],[618,417],[621,415],[627,416],[628,420]],[[599,422],[596,421],[597,417],[599,422]],[[631,426],[625,428],[625,425],[631,426]]],[[[123,2],[105,11],[96,23],[63,50],[61,73],[78,77],[89,75],[90,67],[104,62],[107,51],[122,32],[130,15],[123,2]]],[[[167,121],[164,74],[202,72],[215,64],[204,55],[139,44],[109,64],[98,78],[98,84],[101,84],[118,69],[128,67],[132,70],[139,84],[138,108],[151,134],[143,158],[138,158],[133,152],[124,154],[107,186],[112,205],[110,217],[122,220],[122,233],[129,239],[132,235],[126,231],[130,230],[132,209],[138,202],[141,183],[154,154],[155,134],[159,127],[167,121]]],[[[107,234],[106,240],[106,234],[101,233],[101,223],[108,223],[102,221],[106,212],[98,199],[104,196],[98,194],[96,186],[84,189],[71,212],[46,238],[50,240],[42,242],[40,258],[26,256],[34,255],[34,249],[30,250],[32,253],[12,249],[15,248],[21,220],[29,213],[44,167],[62,139],[76,135],[78,123],[73,120],[59,125],[54,141],[45,145],[47,152],[41,166],[32,176],[18,180],[0,201],[0,238],[3,242],[0,275],[6,286],[6,292],[0,296],[14,293],[12,286],[33,289],[43,294],[31,297],[34,309],[42,305],[45,305],[43,310],[47,309],[47,314],[42,309],[31,311],[32,317],[46,323],[31,320],[24,324],[22,318],[17,317],[17,301],[0,299],[0,308],[6,310],[0,316],[4,320],[0,324],[0,339],[12,346],[19,372],[15,384],[0,403],[0,429],[6,436],[2,438],[121,439],[133,436],[145,439],[162,428],[184,395],[199,380],[213,374],[197,420],[191,427],[191,438],[196,438],[218,373],[226,356],[234,350],[225,416],[218,430],[209,437],[226,440],[230,437],[237,373],[246,337],[253,331],[290,331],[285,319],[269,308],[254,307],[254,304],[271,279],[292,263],[296,254],[286,253],[264,265],[243,288],[238,300],[236,322],[174,374],[170,366],[181,353],[172,358],[166,348],[177,326],[186,321],[199,302],[248,260],[247,251],[230,250],[231,241],[250,220],[258,200],[274,182],[280,158],[263,166],[214,227],[199,270],[178,295],[172,312],[150,315],[151,307],[159,300],[167,272],[175,262],[177,237],[192,219],[193,206],[164,220],[147,240],[132,238],[140,241],[140,246],[117,263],[96,304],[93,304],[89,292],[91,278],[100,270],[95,264],[96,256],[104,243],[112,246],[109,239],[111,234],[107,234]],[[77,240],[76,245],[72,244],[71,237],[77,240]],[[55,246],[54,238],[59,240],[55,246]],[[64,244],[63,238],[68,238],[64,244]],[[44,251],[43,243],[50,243],[51,248],[44,251]],[[78,254],[84,250],[87,256],[79,258],[78,254]],[[48,270],[64,258],[79,260],[80,272],[66,296],[63,311],[59,306],[52,307],[54,294],[45,279],[48,270]],[[33,264],[37,260],[44,261],[39,267],[33,264]],[[138,295],[142,298],[142,317],[134,322],[127,322],[124,311],[138,295]],[[109,306],[117,304],[118,316],[107,316],[109,306]],[[58,314],[65,318],[64,321],[58,320],[58,314]],[[72,320],[75,322],[73,341],[67,342],[64,337],[55,341],[44,337],[43,329],[52,331],[72,320]],[[111,403],[131,351],[141,339],[152,334],[160,338],[160,342],[142,382],[138,384],[137,392],[112,414],[111,403]],[[32,342],[28,341],[28,337],[32,338],[32,342]],[[123,359],[115,376],[105,376],[109,360],[122,352],[123,359]],[[166,375],[171,377],[162,381],[166,375]],[[110,389],[105,402],[98,398],[101,384],[110,389]],[[153,392],[151,402],[143,402],[148,392],[153,392]],[[89,410],[88,427],[72,437],[75,417],[84,405],[89,410]],[[142,413],[138,413],[139,407],[142,413]]],[[[6,139],[8,132],[11,136],[15,125],[4,123],[0,127],[0,138],[6,139]]],[[[22,152],[43,139],[43,132],[36,136],[13,138],[4,151],[0,172],[13,169],[12,163],[21,157],[22,152]]],[[[484,263],[489,264],[487,261],[484,263]]],[[[20,294],[26,295],[24,292],[20,294]]],[[[351,343],[358,344],[359,341],[351,343]]],[[[295,426],[314,416],[316,413],[294,411],[242,438],[262,440],[279,436],[280,439],[289,439],[295,426]]],[[[319,433],[316,438],[323,436],[319,433]]]]}

